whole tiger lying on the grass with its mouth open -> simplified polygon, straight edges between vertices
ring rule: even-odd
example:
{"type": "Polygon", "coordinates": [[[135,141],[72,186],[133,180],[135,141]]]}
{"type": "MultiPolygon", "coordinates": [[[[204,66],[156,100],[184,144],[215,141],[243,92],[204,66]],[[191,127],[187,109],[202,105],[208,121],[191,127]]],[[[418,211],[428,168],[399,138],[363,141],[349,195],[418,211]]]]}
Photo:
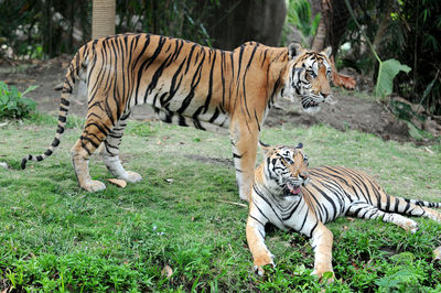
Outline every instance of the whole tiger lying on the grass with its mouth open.
{"type": "Polygon", "coordinates": [[[265,272],[263,265],[275,264],[273,256],[265,245],[267,223],[311,237],[315,253],[313,274],[322,278],[324,272],[333,273],[333,236],[325,223],[345,215],[381,218],[415,232],[417,223],[396,213],[441,221],[441,214],[428,208],[439,208],[440,203],[387,195],[363,172],[344,166],[308,169],[302,144],[295,148],[261,144],[261,148],[265,159],[255,171],[246,229],[255,270],[259,275],[265,272]]]}

